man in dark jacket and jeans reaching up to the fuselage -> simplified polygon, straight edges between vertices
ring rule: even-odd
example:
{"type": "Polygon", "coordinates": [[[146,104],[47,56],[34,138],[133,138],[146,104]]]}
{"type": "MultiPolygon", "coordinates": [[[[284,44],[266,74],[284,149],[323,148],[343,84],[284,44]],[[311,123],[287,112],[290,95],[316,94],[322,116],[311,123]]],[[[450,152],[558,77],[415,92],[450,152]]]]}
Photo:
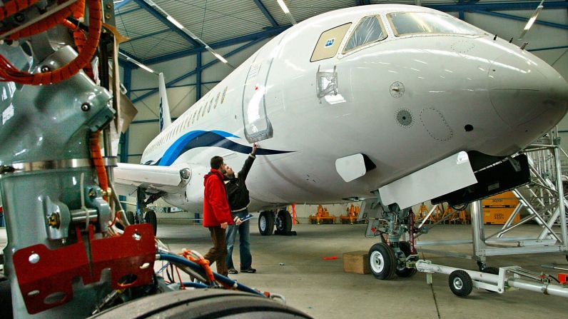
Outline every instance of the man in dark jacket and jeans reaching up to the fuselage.
{"type": "Polygon", "coordinates": [[[235,176],[235,171],[229,166],[225,166],[225,188],[229,197],[230,213],[233,216],[235,225],[229,226],[227,231],[227,267],[229,273],[238,273],[233,265],[233,247],[235,246],[235,237],[239,234],[239,251],[240,251],[240,271],[242,273],[255,273],[256,269],[250,267],[253,263],[253,257],[250,255],[250,223],[245,221],[240,223],[241,218],[248,215],[248,189],[245,180],[248,176],[250,167],[255,161],[255,153],[258,146],[253,145],[253,152],[250,153],[243,165],[243,169],[235,176]]]}

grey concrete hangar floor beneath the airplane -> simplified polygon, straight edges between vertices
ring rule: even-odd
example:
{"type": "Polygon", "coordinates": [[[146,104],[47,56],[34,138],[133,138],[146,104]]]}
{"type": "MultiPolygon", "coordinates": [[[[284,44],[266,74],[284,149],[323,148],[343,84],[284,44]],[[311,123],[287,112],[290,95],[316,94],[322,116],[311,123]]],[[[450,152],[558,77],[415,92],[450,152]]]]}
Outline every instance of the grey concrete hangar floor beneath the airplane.
{"type": "MultiPolygon", "coordinates": [[[[560,297],[512,291],[499,295],[474,290],[468,298],[457,298],[447,285],[446,275],[434,275],[433,285],[425,283],[425,274],[412,278],[376,280],[372,275],[343,272],[342,256],[353,250],[368,250],[375,239],[365,238],[365,225],[295,226],[298,236],[260,236],[252,221],[251,250],[253,267],[258,273],[239,273],[231,278],[250,287],[285,295],[291,305],[314,318],[564,318],[566,300],[560,297]],[[337,260],[323,260],[336,255],[337,260]],[[284,265],[280,265],[284,263],[284,265]]],[[[497,226],[486,226],[493,233],[497,226]]],[[[535,232],[528,226],[523,232],[535,232]]],[[[191,248],[206,253],[211,247],[208,230],[198,225],[160,223],[158,238],[173,251],[191,248]]],[[[471,238],[470,226],[439,226],[422,240],[471,238]]],[[[6,244],[4,229],[0,245],[6,244]]],[[[453,251],[471,253],[468,245],[453,251]]],[[[434,263],[475,270],[472,260],[424,255],[434,263]]],[[[233,253],[238,265],[238,250],[233,253]]],[[[522,265],[543,271],[544,263],[567,263],[564,255],[536,254],[494,257],[491,266],[522,265]]],[[[161,262],[156,263],[159,269],[161,262]]],[[[183,277],[183,275],[182,275],[183,277]]],[[[184,280],[186,278],[183,278],[184,280]]]]}

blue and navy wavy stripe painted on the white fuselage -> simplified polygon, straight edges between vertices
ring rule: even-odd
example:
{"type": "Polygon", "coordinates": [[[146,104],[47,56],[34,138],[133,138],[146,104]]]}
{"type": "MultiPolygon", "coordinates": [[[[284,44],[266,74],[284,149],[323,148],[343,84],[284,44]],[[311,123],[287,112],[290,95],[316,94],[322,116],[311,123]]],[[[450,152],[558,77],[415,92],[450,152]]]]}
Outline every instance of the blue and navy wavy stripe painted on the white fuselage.
{"type": "MultiPolygon", "coordinates": [[[[191,131],[183,134],[167,150],[166,153],[153,165],[170,166],[181,154],[186,153],[192,148],[198,147],[220,147],[238,153],[248,154],[253,151],[250,146],[241,145],[228,139],[239,138],[231,133],[224,131],[191,131]]],[[[277,151],[265,148],[258,148],[256,155],[273,155],[290,153],[291,151],[277,151]]],[[[150,162],[146,162],[150,163],[150,162]]],[[[152,165],[152,164],[151,164],[152,165]]]]}

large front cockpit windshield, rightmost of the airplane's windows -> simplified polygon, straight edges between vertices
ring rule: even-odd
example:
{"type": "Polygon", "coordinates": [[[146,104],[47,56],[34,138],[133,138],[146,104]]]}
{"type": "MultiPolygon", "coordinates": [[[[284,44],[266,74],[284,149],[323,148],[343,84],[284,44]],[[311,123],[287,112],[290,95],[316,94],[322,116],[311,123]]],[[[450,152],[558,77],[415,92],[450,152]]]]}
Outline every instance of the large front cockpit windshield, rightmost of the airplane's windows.
{"type": "Polygon", "coordinates": [[[395,36],[406,34],[485,34],[475,26],[452,16],[428,12],[396,12],[388,15],[395,36]]]}

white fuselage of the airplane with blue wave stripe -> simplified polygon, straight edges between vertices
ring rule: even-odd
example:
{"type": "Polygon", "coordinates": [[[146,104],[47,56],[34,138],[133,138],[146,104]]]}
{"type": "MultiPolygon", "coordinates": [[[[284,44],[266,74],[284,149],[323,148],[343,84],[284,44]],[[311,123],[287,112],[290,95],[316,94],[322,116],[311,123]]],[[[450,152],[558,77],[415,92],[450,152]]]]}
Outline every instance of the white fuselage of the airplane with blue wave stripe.
{"type": "Polygon", "coordinates": [[[211,157],[239,171],[252,146],[243,116],[262,118],[263,108],[273,136],[259,142],[246,181],[252,211],[369,197],[458,151],[508,156],[564,116],[568,85],[544,61],[483,32],[396,36],[387,14],[411,11],[447,16],[420,6],[361,6],[315,16],[265,44],[144,151],[142,163],[191,168],[185,193],[164,199],[201,212],[211,157]],[[380,16],[387,37],[343,54],[371,15],[380,16]],[[338,54],[310,62],[320,35],[344,24],[338,54]],[[318,71],[334,68],[335,92],[318,97],[318,71]],[[345,182],[335,160],[356,153],[376,168],[345,182]]]}

